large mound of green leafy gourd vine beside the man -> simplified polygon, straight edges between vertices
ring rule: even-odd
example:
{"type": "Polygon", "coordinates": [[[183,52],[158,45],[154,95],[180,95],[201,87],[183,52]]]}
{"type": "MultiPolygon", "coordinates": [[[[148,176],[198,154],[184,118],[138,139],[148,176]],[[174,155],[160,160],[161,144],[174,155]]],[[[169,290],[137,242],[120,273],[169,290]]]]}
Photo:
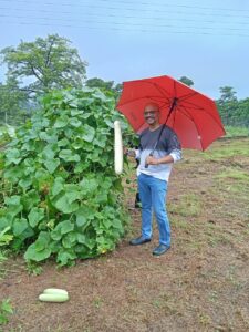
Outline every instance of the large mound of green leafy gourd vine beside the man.
{"type": "MultiPolygon", "coordinates": [[[[115,248],[124,234],[114,174],[114,98],[97,89],[53,92],[6,151],[0,228],[28,261],[61,266],[115,248]]],[[[125,126],[125,124],[124,124],[125,126]]]]}

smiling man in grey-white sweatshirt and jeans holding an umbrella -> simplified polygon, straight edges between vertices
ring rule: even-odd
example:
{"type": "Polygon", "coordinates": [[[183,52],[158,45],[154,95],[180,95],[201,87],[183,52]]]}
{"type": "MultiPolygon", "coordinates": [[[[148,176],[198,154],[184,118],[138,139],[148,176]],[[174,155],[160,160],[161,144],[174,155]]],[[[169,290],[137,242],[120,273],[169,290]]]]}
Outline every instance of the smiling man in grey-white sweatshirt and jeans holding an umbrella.
{"type": "Polygon", "coordinates": [[[144,117],[148,128],[141,134],[139,149],[136,155],[139,158],[137,181],[142,203],[142,234],[129,243],[138,246],[151,241],[154,210],[159,230],[159,245],[153,250],[153,255],[159,256],[170,248],[170,226],[165,206],[167,184],[173,163],[181,158],[181,149],[175,132],[159,124],[157,104],[147,104],[144,117]],[[152,152],[153,155],[149,155],[152,152]]]}

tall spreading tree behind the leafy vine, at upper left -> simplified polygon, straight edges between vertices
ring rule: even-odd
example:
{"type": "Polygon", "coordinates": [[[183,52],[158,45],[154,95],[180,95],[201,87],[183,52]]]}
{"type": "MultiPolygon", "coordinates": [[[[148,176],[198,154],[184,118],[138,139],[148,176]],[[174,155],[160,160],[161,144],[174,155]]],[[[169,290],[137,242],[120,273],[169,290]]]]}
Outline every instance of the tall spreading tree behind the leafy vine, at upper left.
{"type": "Polygon", "coordinates": [[[53,89],[82,87],[86,62],[70,41],[58,34],[38,38],[3,49],[0,54],[8,65],[8,76],[17,80],[29,95],[53,89]],[[27,82],[31,82],[30,84],[27,82]]]}

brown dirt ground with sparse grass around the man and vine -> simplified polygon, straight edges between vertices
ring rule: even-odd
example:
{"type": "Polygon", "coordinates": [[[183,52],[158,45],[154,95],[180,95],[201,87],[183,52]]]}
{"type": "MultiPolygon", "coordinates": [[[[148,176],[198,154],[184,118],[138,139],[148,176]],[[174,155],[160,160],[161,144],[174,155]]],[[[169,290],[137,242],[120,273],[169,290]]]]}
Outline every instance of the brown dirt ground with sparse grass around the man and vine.
{"type": "Polygon", "coordinates": [[[128,245],[139,234],[134,196],[131,230],[114,252],[66,269],[45,263],[40,276],[9,259],[0,300],[10,298],[14,313],[0,331],[249,331],[249,139],[184,152],[169,180],[173,243],[159,258],[155,222],[152,242],[128,245]],[[51,287],[70,301],[39,302],[51,287]]]}

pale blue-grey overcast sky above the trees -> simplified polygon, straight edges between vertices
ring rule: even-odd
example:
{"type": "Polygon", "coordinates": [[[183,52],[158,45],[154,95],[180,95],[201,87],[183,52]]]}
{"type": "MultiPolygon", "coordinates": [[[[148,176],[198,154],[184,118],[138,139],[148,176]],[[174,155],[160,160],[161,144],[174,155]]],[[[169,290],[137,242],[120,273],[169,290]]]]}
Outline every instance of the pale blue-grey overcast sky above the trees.
{"type": "Polygon", "coordinates": [[[225,85],[249,97],[248,0],[0,0],[0,49],[68,38],[87,79],[185,75],[212,98],[225,85]]]}

